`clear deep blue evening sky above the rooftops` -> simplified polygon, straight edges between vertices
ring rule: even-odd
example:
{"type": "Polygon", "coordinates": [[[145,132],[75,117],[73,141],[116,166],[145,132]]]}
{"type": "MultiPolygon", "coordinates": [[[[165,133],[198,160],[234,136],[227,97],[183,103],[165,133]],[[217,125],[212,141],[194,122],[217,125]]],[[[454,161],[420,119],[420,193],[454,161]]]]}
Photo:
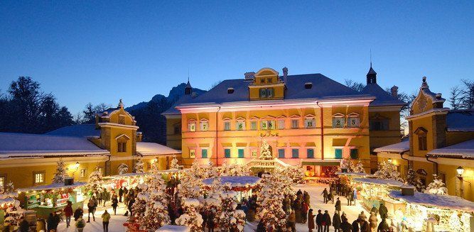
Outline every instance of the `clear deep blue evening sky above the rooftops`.
{"type": "Polygon", "coordinates": [[[31,76],[74,114],[261,67],[448,96],[474,79],[474,1],[0,1],[0,89],[31,76]]]}

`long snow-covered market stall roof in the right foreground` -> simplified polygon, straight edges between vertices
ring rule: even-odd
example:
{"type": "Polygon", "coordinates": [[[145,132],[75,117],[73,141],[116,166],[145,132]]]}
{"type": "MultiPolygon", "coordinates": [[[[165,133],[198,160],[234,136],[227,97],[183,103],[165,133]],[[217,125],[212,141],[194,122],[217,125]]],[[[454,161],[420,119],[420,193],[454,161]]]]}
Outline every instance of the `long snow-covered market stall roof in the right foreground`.
{"type": "Polygon", "coordinates": [[[435,206],[440,209],[455,209],[458,211],[474,212],[473,201],[450,195],[415,192],[414,196],[402,196],[401,191],[391,191],[389,197],[402,199],[410,204],[421,204],[424,206],[435,206]]]}

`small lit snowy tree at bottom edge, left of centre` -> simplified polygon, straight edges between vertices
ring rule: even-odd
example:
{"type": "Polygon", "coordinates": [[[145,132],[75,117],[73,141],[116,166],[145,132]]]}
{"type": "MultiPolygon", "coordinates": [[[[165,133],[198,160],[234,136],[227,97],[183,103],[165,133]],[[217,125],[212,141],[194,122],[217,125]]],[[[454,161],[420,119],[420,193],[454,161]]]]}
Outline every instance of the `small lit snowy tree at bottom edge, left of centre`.
{"type": "Polygon", "coordinates": [[[176,219],[178,226],[188,226],[191,231],[203,230],[203,216],[198,213],[199,201],[198,199],[184,199],[183,202],[184,214],[176,219]]]}

